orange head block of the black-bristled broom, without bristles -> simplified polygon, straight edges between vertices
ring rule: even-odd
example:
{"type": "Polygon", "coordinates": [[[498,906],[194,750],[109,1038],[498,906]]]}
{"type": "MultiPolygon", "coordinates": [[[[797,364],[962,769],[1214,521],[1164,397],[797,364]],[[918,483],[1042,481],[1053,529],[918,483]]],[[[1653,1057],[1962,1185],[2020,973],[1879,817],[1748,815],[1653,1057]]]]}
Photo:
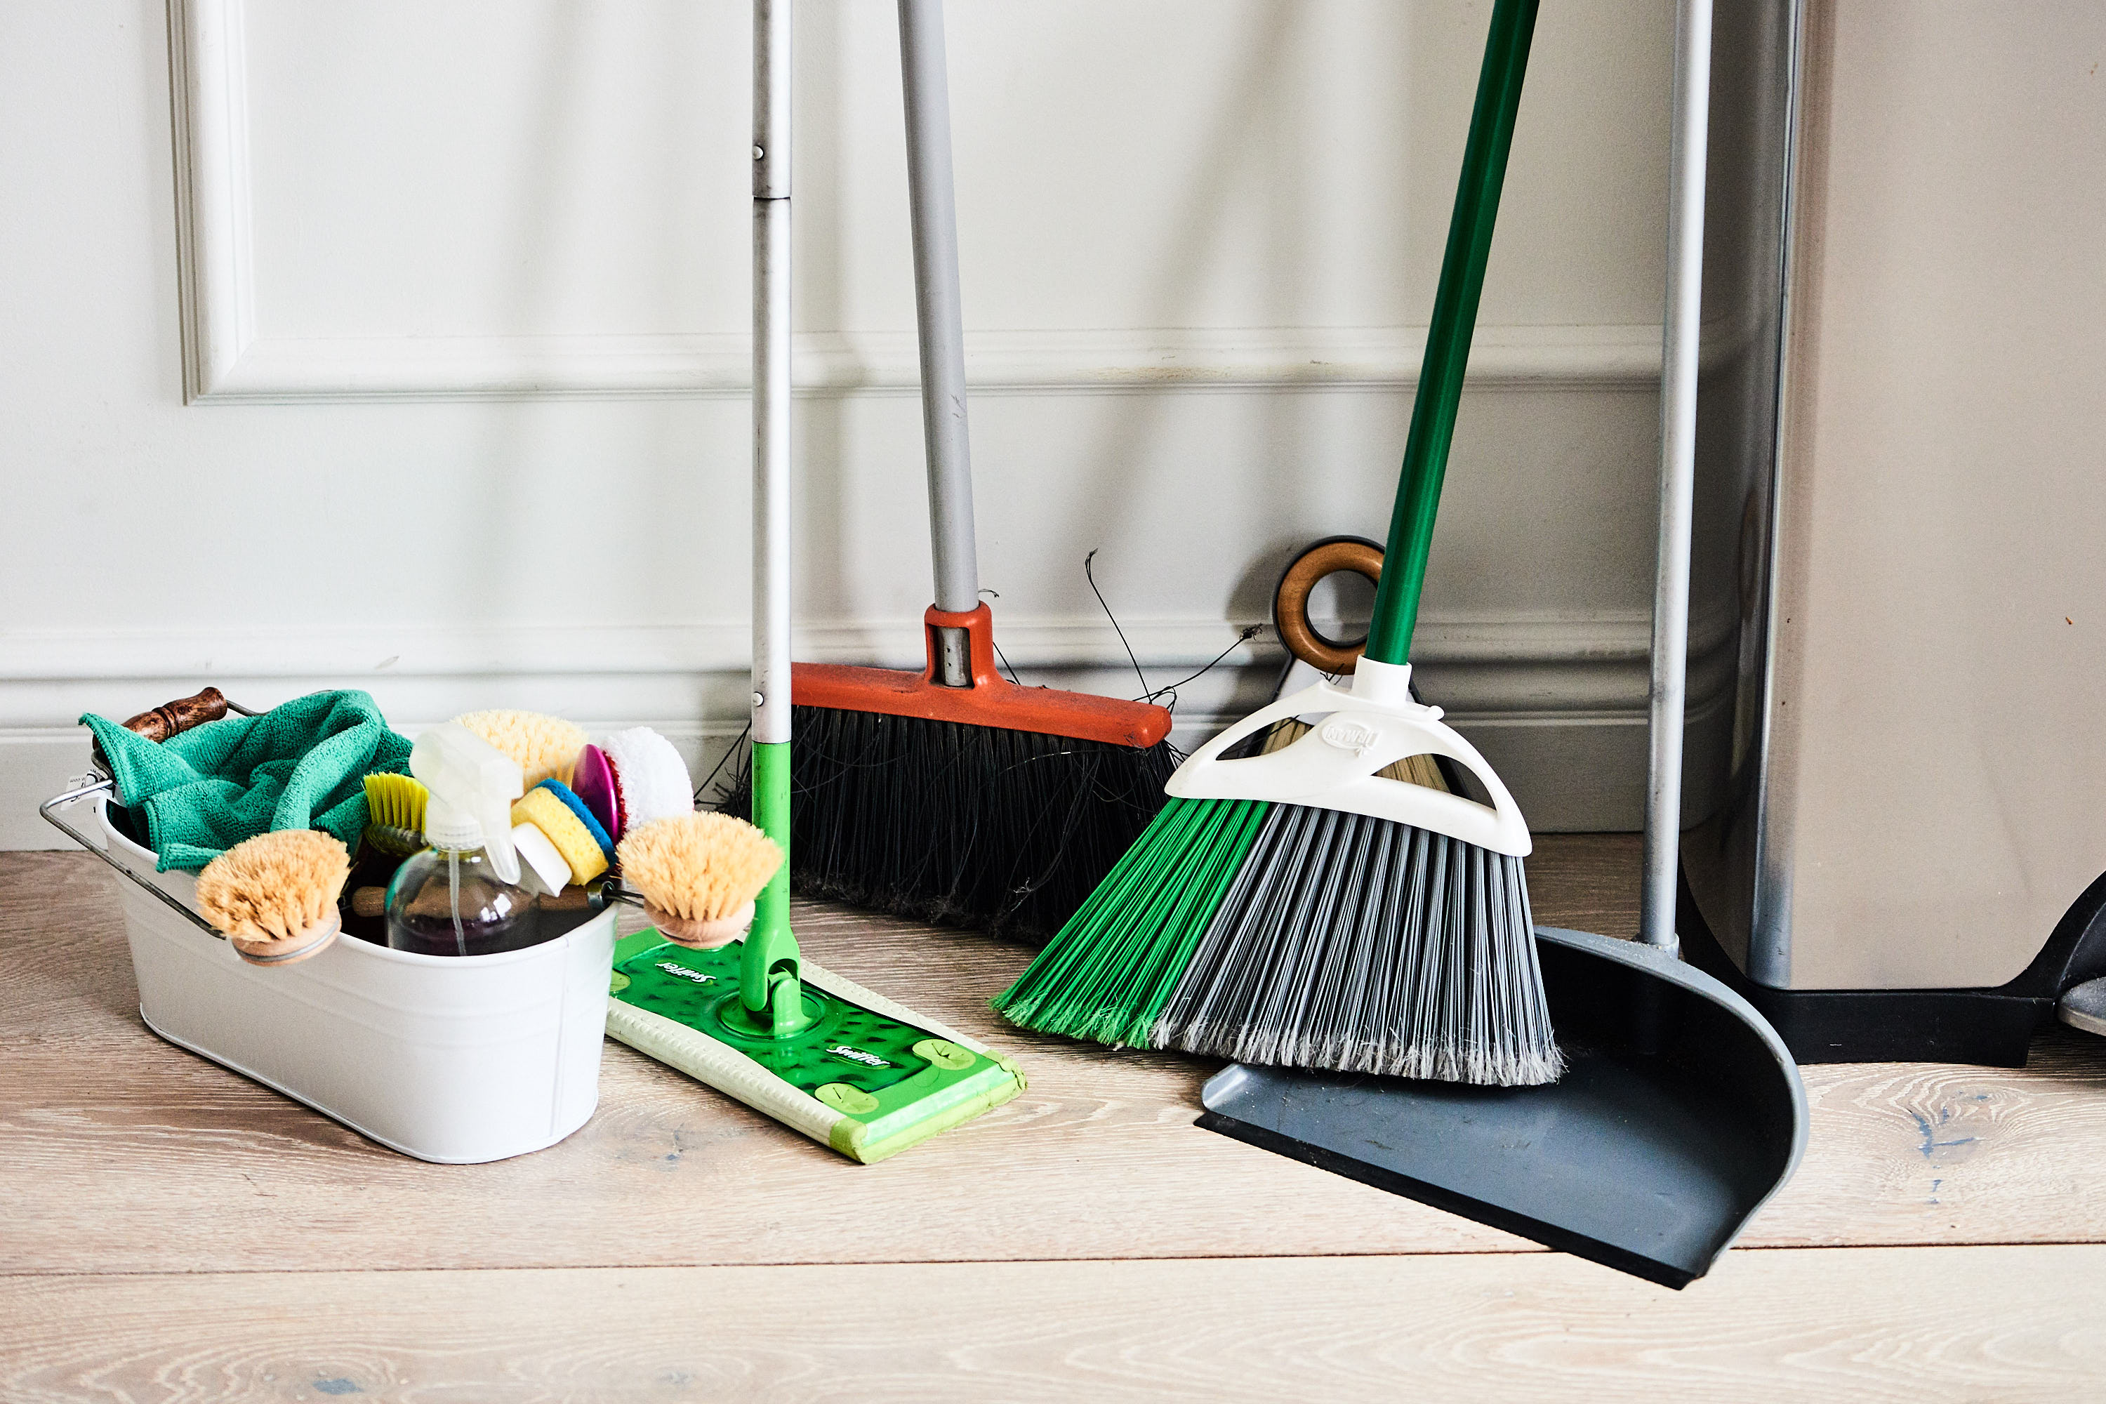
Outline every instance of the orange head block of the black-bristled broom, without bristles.
{"type": "Polygon", "coordinates": [[[929,606],[922,617],[929,665],[920,674],[885,667],[798,663],[790,669],[790,699],[798,707],[836,711],[878,711],[927,722],[962,722],[998,730],[1028,730],[1106,745],[1148,747],[1171,730],[1171,714],[1154,703],[1028,688],[994,669],[994,617],[981,604],[967,615],[929,606]],[[937,629],[965,629],[973,686],[937,682],[937,629]]]}

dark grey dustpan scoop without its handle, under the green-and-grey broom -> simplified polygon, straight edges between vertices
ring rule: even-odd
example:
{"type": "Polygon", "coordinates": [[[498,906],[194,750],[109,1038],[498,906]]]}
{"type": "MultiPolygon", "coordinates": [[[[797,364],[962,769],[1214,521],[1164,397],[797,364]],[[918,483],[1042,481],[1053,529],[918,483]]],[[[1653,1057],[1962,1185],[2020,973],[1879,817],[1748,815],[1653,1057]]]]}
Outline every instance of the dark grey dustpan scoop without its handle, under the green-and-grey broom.
{"type": "Polygon", "coordinates": [[[1685,1286],[1807,1141],[1792,1055],[1674,956],[1535,928],[1571,1069],[1495,1088],[1234,1065],[1198,1124],[1544,1246],[1685,1286]]]}

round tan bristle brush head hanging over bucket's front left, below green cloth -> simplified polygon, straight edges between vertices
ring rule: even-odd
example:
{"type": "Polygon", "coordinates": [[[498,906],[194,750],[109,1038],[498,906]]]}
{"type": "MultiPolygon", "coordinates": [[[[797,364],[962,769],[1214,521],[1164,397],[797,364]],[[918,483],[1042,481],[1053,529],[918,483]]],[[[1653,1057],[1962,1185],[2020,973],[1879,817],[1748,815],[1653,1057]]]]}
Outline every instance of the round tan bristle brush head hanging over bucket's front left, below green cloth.
{"type": "Polygon", "coordinates": [[[249,964],[293,964],[320,954],[343,930],[337,897],[350,876],[352,855],[329,834],[257,834],[198,874],[198,914],[249,964]]]}

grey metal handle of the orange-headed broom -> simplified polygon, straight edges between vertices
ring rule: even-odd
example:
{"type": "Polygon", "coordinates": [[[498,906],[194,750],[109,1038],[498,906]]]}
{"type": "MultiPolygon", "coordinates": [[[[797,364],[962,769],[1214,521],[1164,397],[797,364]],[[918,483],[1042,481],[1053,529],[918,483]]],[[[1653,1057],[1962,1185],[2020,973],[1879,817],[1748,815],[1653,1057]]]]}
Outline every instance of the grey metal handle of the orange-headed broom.
{"type": "MultiPolygon", "coordinates": [[[[935,606],[965,615],[979,606],[979,566],[973,547],[973,448],[965,421],[965,309],[958,295],[958,202],[950,168],[943,0],[899,0],[899,78],[908,118],[914,322],[920,333],[922,448],[929,459],[935,606]]],[[[962,650],[958,663],[958,676],[946,676],[943,682],[952,686],[971,682],[962,650]]]]}

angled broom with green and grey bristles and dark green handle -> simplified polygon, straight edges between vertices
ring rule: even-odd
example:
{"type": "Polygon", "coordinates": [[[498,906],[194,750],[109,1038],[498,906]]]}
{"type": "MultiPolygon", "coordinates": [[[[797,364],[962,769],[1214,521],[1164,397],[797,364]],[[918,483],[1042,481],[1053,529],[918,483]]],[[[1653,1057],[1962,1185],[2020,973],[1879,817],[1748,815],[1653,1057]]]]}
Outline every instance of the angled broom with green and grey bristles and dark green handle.
{"type": "Polygon", "coordinates": [[[1089,901],[994,1000],[1011,1023],[1245,1063],[1554,1082],[1521,859],[1529,829],[1476,747],[1411,701],[1411,625],[1491,250],[1537,0],[1497,0],[1367,655],[1200,747],[1089,901]],[[1274,722],[1295,743],[1240,756],[1274,722]],[[1491,804],[1384,777],[1447,756],[1491,804]]]}

